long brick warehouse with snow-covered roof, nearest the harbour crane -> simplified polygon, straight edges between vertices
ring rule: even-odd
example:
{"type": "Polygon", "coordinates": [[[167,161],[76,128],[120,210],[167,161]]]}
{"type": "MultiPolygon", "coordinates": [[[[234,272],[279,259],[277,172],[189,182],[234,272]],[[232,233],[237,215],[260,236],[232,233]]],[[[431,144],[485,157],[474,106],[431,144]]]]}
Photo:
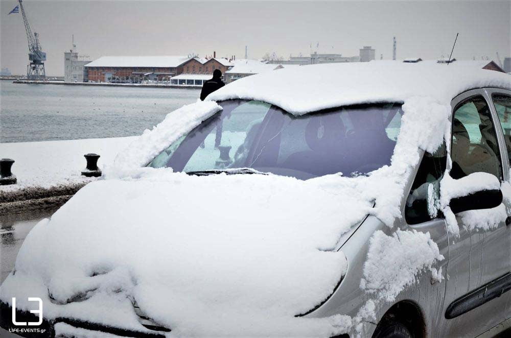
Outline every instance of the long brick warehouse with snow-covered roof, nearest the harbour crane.
{"type": "Polygon", "coordinates": [[[185,56],[104,56],[85,65],[86,77],[92,82],[168,80],[180,74],[180,66],[189,60],[185,56]]]}

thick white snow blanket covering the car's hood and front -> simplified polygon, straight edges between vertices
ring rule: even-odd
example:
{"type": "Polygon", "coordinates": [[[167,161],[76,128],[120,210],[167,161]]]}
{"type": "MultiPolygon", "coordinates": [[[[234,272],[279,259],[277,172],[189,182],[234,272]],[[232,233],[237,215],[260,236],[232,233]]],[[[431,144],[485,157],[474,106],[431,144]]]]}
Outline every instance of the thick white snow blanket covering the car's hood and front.
{"type": "Polygon", "coordinates": [[[341,316],[294,317],[332,294],[347,268],[332,249],[372,207],[341,185],[321,185],[321,178],[170,170],[90,183],[29,234],[2,291],[18,295],[23,308],[15,284],[40,281],[22,289],[43,299],[45,317],[136,327],[126,305],[134,298],[177,335],[345,331],[341,316]],[[100,297],[123,304],[117,320],[91,306],[100,297]]]}

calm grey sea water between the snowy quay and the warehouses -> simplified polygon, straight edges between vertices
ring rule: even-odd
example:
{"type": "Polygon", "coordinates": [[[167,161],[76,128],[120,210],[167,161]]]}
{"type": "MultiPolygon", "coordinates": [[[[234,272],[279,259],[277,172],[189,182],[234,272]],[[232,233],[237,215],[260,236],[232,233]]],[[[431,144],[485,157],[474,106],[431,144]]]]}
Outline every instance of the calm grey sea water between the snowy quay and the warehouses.
{"type": "Polygon", "coordinates": [[[0,143],[140,135],[199,89],[0,81],[0,143]]]}

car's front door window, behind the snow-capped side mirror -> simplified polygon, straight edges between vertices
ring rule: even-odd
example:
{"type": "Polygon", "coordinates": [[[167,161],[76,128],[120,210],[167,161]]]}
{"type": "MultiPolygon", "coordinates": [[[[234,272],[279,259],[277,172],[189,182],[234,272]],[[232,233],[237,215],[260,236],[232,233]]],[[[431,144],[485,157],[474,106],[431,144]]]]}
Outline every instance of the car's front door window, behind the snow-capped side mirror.
{"type": "Polygon", "coordinates": [[[502,177],[502,163],[490,109],[480,95],[459,103],[452,118],[451,177],[476,172],[502,177]]]}

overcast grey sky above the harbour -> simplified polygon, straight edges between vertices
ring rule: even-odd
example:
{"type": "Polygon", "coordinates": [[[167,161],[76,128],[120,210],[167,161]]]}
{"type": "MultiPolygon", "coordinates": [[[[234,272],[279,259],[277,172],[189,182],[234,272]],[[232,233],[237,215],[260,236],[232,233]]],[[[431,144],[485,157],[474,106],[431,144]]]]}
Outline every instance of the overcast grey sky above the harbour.
{"type": "MultiPolygon", "coordinates": [[[[503,60],[511,56],[511,1],[407,2],[23,2],[32,31],[40,34],[47,75],[62,76],[71,34],[81,54],[188,55],[285,59],[310,53],[356,56],[364,45],[377,59],[453,56],[503,60]],[[319,48],[316,48],[319,44],[319,48]]],[[[0,65],[25,74],[28,44],[21,13],[7,15],[16,1],[0,0],[0,65]]]]}

